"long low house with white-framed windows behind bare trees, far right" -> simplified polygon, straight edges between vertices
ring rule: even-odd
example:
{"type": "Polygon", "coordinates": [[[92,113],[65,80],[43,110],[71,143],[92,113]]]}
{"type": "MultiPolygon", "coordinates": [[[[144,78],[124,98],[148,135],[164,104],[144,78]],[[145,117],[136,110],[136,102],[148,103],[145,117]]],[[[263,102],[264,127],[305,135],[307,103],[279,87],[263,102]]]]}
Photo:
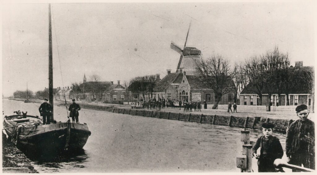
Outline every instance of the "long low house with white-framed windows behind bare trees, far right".
{"type": "MultiPolygon", "coordinates": [[[[303,66],[302,61],[295,62],[295,67],[292,69],[304,69],[306,71],[314,72],[313,67],[303,66]]],[[[256,92],[256,88],[252,85],[252,82],[250,82],[240,93],[240,105],[259,105],[260,97],[256,92]]],[[[286,106],[287,104],[286,94],[282,92],[279,99],[277,89],[272,94],[271,99],[268,98],[267,91],[263,89],[262,105],[269,106],[271,103],[271,106],[286,106]]],[[[314,100],[314,95],[309,94],[309,92],[304,91],[303,89],[299,89],[288,94],[288,99],[290,106],[297,106],[299,104],[311,106],[313,104],[312,100],[314,100]]]]}

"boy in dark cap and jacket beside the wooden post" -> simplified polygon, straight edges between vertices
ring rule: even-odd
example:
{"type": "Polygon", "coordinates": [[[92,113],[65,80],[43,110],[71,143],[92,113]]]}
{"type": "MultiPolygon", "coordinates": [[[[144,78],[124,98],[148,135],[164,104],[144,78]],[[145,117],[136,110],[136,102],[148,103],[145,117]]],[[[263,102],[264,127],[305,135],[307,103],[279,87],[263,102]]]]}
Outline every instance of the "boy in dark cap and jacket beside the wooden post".
{"type": "Polygon", "coordinates": [[[272,136],[274,124],[263,123],[263,136],[259,137],[252,148],[252,156],[258,159],[259,172],[276,172],[274,160],[283,157],[283,148],[278,138],[272,136]],[[257,149],[261,147],[260,154],[256,154],[257,149]]]}

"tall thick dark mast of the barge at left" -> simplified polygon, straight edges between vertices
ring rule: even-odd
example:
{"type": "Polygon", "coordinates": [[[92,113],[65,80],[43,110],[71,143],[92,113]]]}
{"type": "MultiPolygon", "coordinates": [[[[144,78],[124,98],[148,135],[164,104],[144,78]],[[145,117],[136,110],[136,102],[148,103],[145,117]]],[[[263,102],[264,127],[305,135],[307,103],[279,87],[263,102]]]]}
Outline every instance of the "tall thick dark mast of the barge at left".
{"type": "Polygon", "coordinates": [[[51,4],[49,4],[49,104],[52,106],[51,121],[54,121],[53,103],[53,53],[52,53],[52,20],[51,4]]]}

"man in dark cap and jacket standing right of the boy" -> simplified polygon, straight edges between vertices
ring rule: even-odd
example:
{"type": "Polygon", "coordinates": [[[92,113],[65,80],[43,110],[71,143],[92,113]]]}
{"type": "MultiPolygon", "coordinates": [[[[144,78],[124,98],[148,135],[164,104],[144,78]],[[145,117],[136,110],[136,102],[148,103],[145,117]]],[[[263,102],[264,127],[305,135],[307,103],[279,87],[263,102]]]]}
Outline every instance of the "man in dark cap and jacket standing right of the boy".
{"type": "Polygon", "coordinates": [[[289,125],[286,136],[288,163],[315,169],[314,122],[307,119],[309,112],[306,105],[299,105],[295,110],[298,119],[289,125]]]}

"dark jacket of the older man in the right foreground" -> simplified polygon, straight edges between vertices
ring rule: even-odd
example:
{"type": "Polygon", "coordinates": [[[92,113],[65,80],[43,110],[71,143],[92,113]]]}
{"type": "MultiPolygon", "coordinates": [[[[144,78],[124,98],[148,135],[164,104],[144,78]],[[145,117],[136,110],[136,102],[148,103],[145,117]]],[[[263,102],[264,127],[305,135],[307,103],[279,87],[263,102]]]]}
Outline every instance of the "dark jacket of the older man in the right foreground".
{"type": "Polygon", "coordinates": [[[301,122],[300,119],[289,125],[286,136],[286,155],[314,152],[315,146],[315,124],[307,119],[301,122]],[[308,137],[309,134],[309,137],[308,137]],[[311,143],[309,143],[309,140],[311,143]],[[310,150],[308,150],[308,146],[310,150]]]}

